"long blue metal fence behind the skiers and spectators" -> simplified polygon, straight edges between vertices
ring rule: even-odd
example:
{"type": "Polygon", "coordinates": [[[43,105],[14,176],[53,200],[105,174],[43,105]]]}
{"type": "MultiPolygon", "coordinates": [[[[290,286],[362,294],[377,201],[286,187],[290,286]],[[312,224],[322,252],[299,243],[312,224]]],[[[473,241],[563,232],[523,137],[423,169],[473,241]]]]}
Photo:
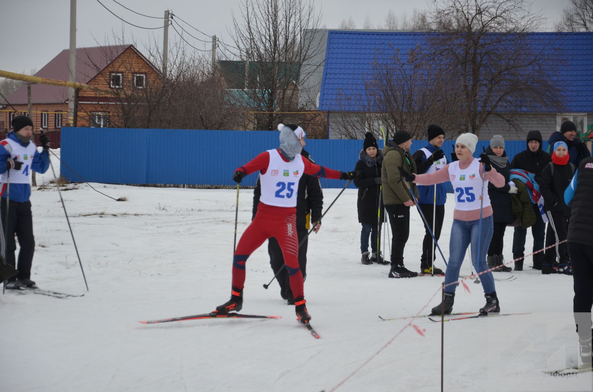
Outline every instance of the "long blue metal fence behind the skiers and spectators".
{"type": "MultiPolygon", "coordinates": [[[[378,143],[382,146],[381,140],[378,143]]],[[[448,159],[453,143],[447,140],[442,147],[448,159]]],[[[425,145],[413,142],[412,153],[425,145]]],[[[488,145],[489,141],[480,140],[476,151],[488,145]]],[[[526,146],[524,141],[507,141],[509,160],[526,146]]],[[[62,128],[63,162],[87,181],[108,184],[235,185],[232,173],[237,166],[275,147],[275,131],[62,128]]],[[[320,165],[350,171],[362,140],[307,140],[305,149],[320,165]]],[[[65,166],[60,169],[69,181],[81,181],[65,166]]],[[[241,184],[255,185],[256,179],[251,175],[241,184]]],[[[322,179],[322,185],[342,188],[344,182],[322,179]]]]}

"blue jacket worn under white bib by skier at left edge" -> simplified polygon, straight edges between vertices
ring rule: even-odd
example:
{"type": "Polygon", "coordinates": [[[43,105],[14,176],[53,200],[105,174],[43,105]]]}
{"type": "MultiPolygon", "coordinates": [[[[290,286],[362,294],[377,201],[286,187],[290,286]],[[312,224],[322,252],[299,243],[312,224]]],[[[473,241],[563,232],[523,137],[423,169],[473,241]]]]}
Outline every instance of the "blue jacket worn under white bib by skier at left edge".
{"type": "MultiPolygon", "coordinates": [[[[18,140],[17,135],[14,134],[14,132],[11,132],[7,135],[7,139],[11,139],[14,142],[19,143],[21,146],[23,147],[27,147],[29,143],[31,142],[27,142],[27,144],[23,144],[21,143],[20,140],[18,140]]],[[[0,147],[0,175],[4,174],[5,172],[7,172],[7,168],[6,168],[6,164],[5,162],[9,159],[9,158],[13,158],[12,157],[12,149],[11,146],[8,144],[8,142],[6,140],[2,140],[2,142],[0,142],[0,145],[2,147],[0,147]]],[[[17,160],[20,160],[22,162],[23,158],[19,158],[17,160]]],[[[23,172],[25,173],[25,175],[28,176],[28,169],[34,170],[37,173],[45,173],[47,171],[47,169],[49,168],[49,155],[47,153],[46,150],[42,150],[42,152],[37,151],[37,149],[35,150],[35,153],[33,155],[33,160],[31,161],[30,165],[26,165],[26,163],[23,165],[23,170],[26,171],[23,172]]],[[[5,182],[2,183],[2,190],[0,191],[0,194],[2,195],[2,197],[7,198],[7,184],[5,182]]],[[[25,201],[29,200],[29,197],[31,196],[31,185],[29,184],[17,184],[17,183],[12,183],[10,184],[10,200],[11,201],[18,201],[19,203],[23,203],[25,201]]]]}

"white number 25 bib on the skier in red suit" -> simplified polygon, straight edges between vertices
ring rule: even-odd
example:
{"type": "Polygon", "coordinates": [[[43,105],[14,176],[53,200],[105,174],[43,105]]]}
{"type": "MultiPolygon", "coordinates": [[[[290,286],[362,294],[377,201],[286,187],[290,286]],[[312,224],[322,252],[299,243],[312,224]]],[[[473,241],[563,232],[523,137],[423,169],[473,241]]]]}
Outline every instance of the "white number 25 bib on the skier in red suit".
{"type": "Polygon", "coordinates": [[[260,175],[260,201],[276,207],[297,207],[298,182],[305,171],[302,156],[299,154],[291,162],[285,162],[278,150],[267,152],[270,154],[270,163],[266,173],[260,175]]]}

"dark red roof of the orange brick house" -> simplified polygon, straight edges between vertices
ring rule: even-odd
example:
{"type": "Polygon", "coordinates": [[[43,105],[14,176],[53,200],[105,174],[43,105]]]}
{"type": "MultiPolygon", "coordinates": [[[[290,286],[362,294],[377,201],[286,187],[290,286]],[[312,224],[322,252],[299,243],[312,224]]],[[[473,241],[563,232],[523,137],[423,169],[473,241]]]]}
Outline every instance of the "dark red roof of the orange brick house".
{"type": "MultiPolygon", "coordinates": [[[[76,82],[88,83],[101,70],[122,54],[127,48],[132,47],[152,68],[160,73],[151,62],[142,56],[133,45],[111,45],[76,48],[76,82]]],[[[41,78],[59,79],[68,81],[69,50],[64,49],[35,74],[41,78]]],[[[68,101],[68,87],[35,84],[31,85],[31,103],[62,103],[68,101]]],[[[27,85],[20,86],[16,91],[0,102],[2,105],[26,104],[27,85]]]]}

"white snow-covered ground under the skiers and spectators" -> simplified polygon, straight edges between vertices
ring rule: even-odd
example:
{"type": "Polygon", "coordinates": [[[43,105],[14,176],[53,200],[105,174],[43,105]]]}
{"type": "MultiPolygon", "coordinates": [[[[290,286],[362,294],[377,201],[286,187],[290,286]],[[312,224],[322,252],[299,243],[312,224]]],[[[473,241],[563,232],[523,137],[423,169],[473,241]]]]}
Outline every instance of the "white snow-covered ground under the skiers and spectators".
{"type": "MultiPolygon", "coordinates": [[[[37,181],[51,178],[50,169],[37,181]]],[[[88,292],[58,193],[33,191],[32,278],[42,288],[85,295],[0,295],[0,390],[318,392],[334,390],[349,376],[337,390],[439,390],[441,324],[417,319],[421,336],[413,327],[400,333],[409,320],[377,316],[416,314],[442,279],[388,279],[389,266],[360,263],[355,190],[342,194],[309,242],[305,294],[321,335],[315,340],[297,324],[276,283],[263,289],[273,276],[266,246],[247,261],[243,312],[282,319],[139,324],[206,313],[228,299],[236,192],[93,186],[127,201],[86,184],[62,191],[88,292]]],[[[240,192],[238,235],[251,219],[252,192],[240,192]]],[[[338,192],[324,191],[326,206],[338,192]]],[[[452,208],[449,197],[440,241],[445,257],[452,208]]],[[[411,226],[406,266],[416,270],[424,230],[415,212],[411,226]]],[[[508,259],[511,245],[508,229],[508,259]]],[[[440,260],[436,265],[444,268],[440,260]]],[[[566,347],[576,358],[572,277],[544,276],[530,265],[528,259],[525,271],[512,272],[515,281],[496,282],[496,288],[503,313],[533,314],[445,323],[445,390],[591,390],[590,372],[562,379],[541,372],[542,366],[565,366],[565,346],[548,340],[572,342],[566,347]]],[[[462,273],[469,272],[466,262],[462,273]]],[[[468,287],[471,294],[458,288],[454,311],[483,306],[481,285],[468,281],[468,287]]]]}

